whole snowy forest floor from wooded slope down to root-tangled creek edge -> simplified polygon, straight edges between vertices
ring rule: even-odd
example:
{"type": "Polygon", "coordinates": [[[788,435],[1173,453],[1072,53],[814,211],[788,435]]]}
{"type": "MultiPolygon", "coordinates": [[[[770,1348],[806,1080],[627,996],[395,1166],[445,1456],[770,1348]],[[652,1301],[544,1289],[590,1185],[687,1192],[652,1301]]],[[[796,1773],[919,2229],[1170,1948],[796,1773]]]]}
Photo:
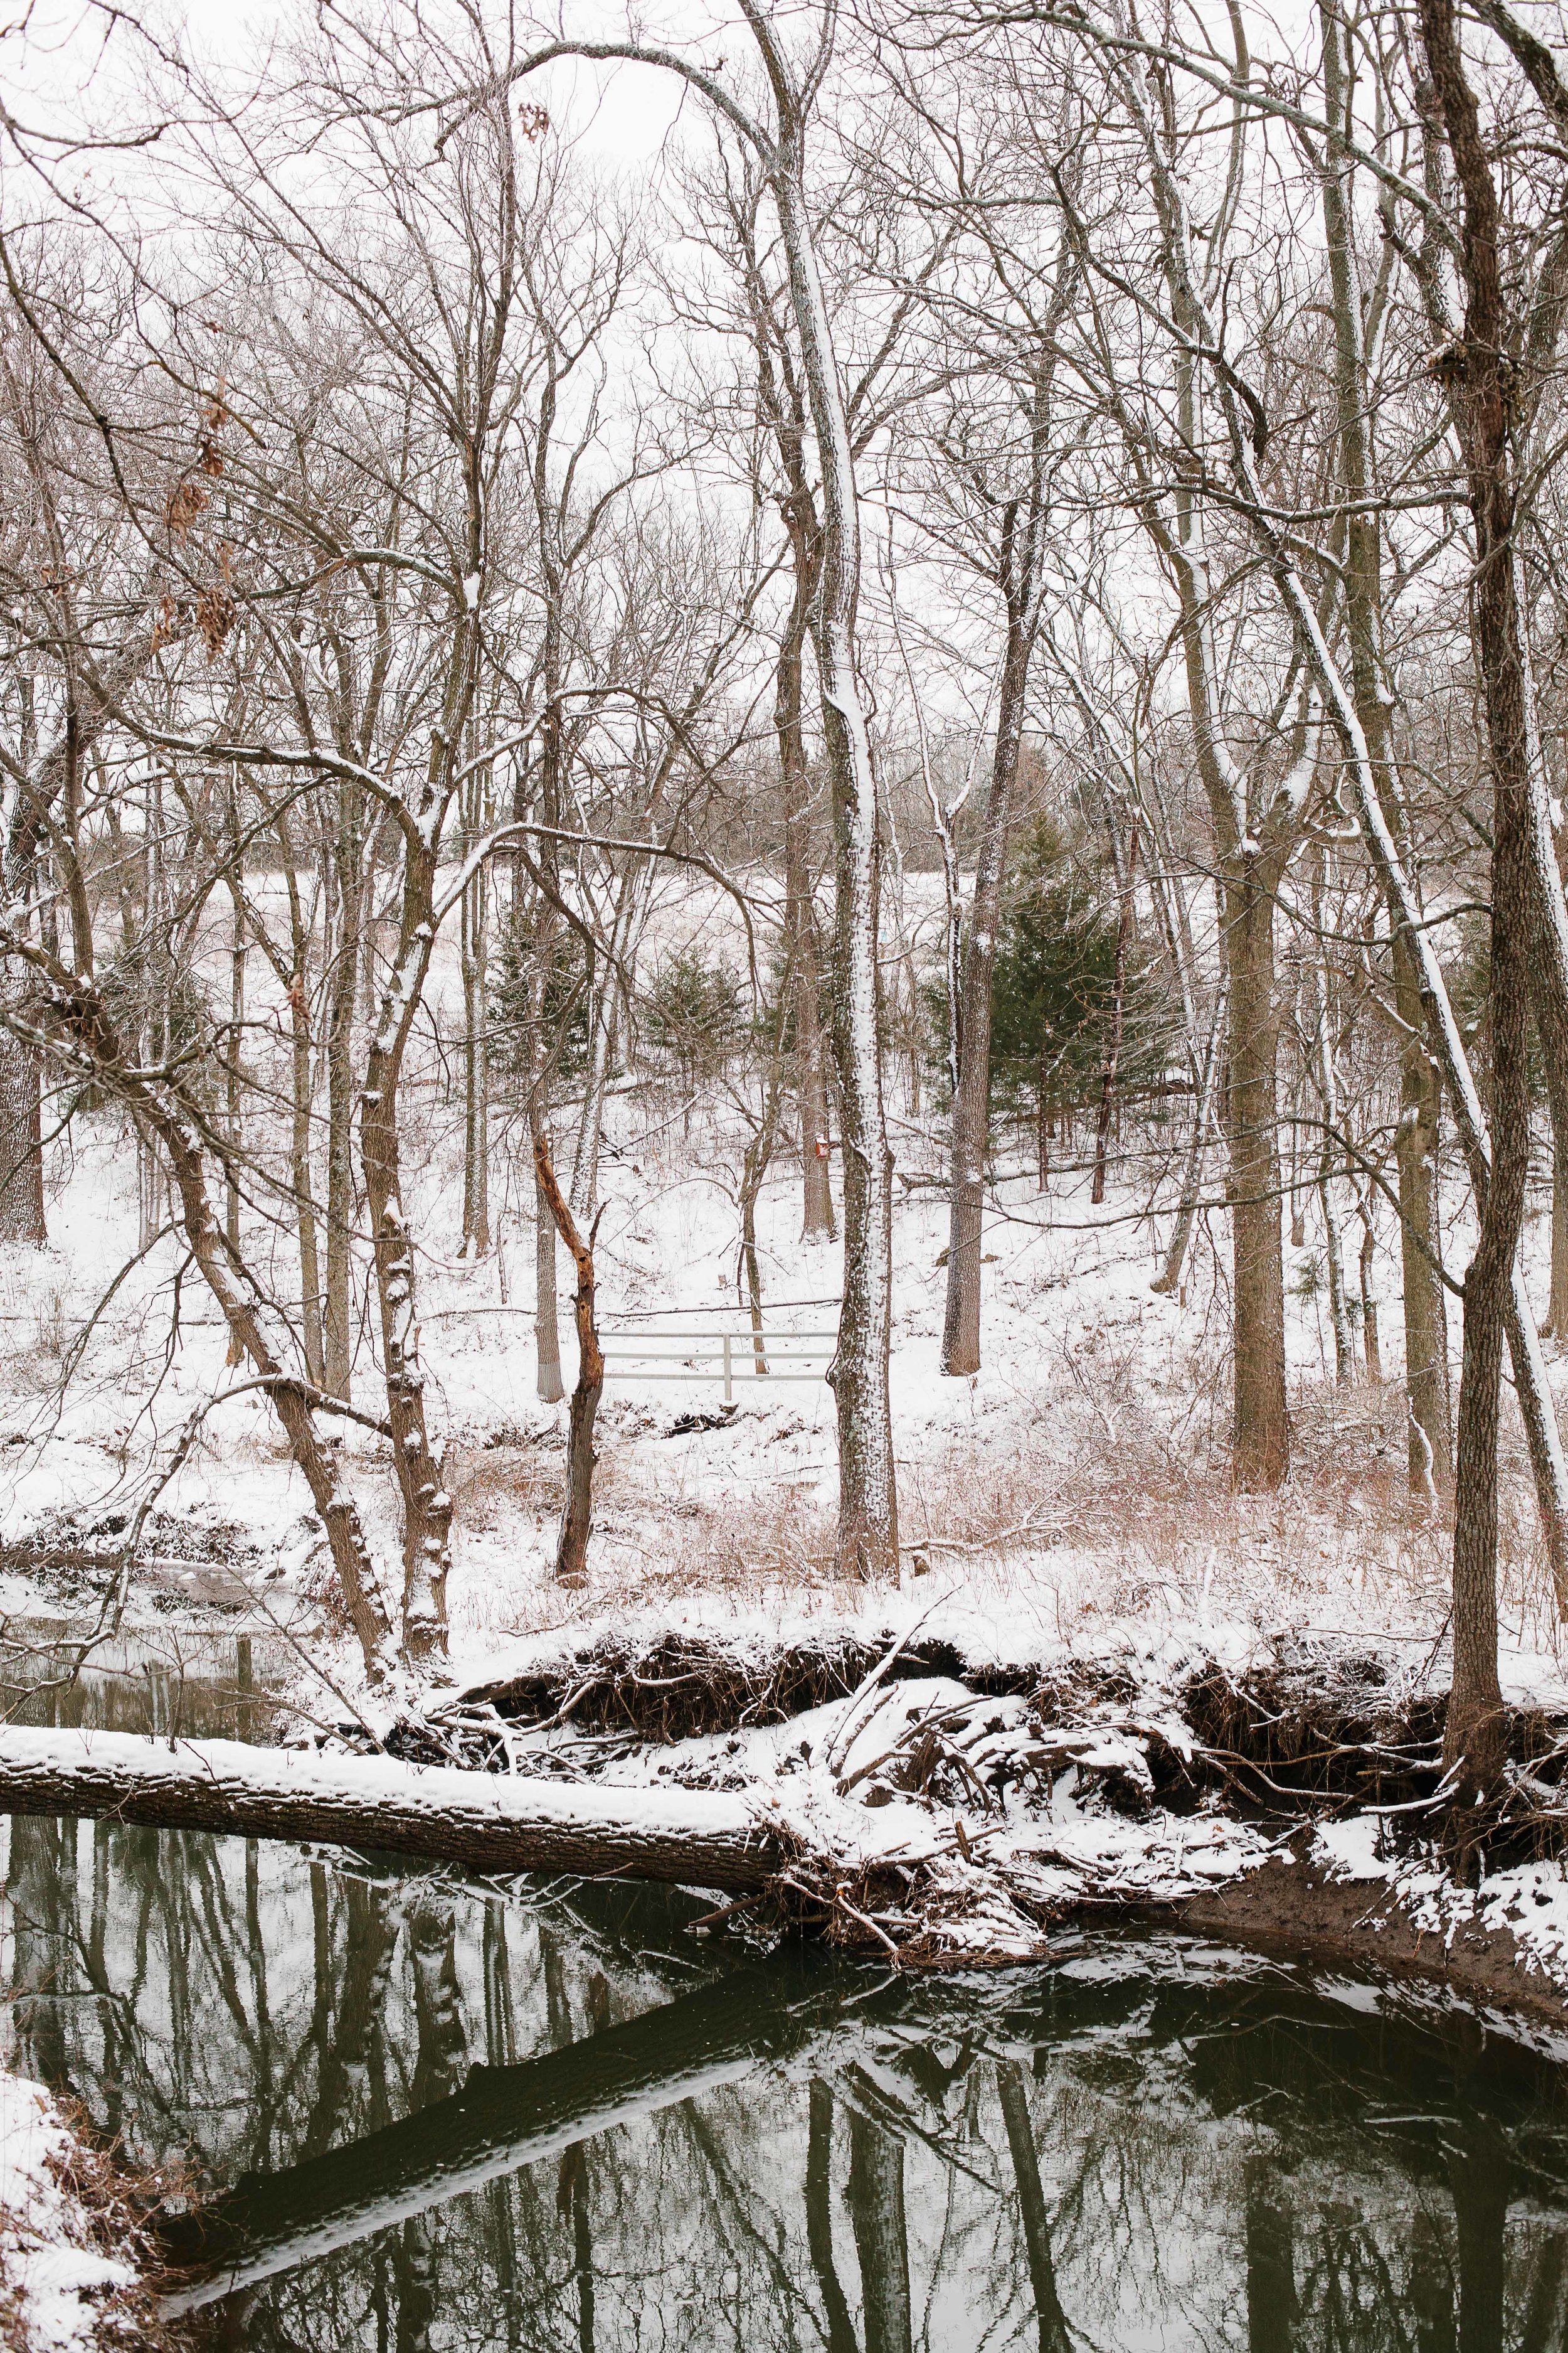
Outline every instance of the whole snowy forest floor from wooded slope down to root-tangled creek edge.
{"type": "MultiPolygon", "coordinates": [[[[456,1499],[454,1682],[404,1753],[505,1755],[628,1798],[748,1791],[759,1821],[816,1859],[797,1873],[799,1915],[910,1965],[1039,1955],[1084,1904],[1199,1918],[1215,1889],[1248,1880],[1258,1915],[1288,1861],[1293,1887],[1352,1889],[1359,1934],[1380,1934],[1389,1962],[1413,1941],[1418,1965],[1486,1960],[1479,1991],[1507,1962],[1552,2002],[1568,1993],[1568,1882],[1540,1840],[1514,1840],[1460,1889],[1420,1835],[1448,1675],[1448,1537],[1408,1494],[1387,1245],[1392,1377],[1345,1386],[1321,1245],[1288,1252],[1293,1468],[1276,1494],[1234,1494],[1225,1257],[1206,1224],[1182,1292],[1159,1297],[1168,1221],[1157,1231],[1131,1186],[1093,1209],[1081,1169],[1044,1195],[1027,1176],[1004,1181],[987,1221],[985,1369],[947,1381],[936,1151],[905,1129],[891,1360],[903,1569],[898,1584],[844,1586],[825,1384],[743,1377],[741,1346],[729,1405],[717,1381],[646,1379],[651,1334],[679,1351],[698,1332],[743,1332],[736,1158],[736,1139],[701,1118],[693,1134],[670,1122],[637,1162],[607,1155],[602,1322],[632,1355],[599,1414],[581,1593],[550,1577],[564,1407],[534,1395],[531,1235],[503,1207],[501,1254],[425,1254],[423,1355],[456,1499]]],[[[411,1179],[416,1231],[447,1231],[451,1174],[433,1144],[411,1179]]],[[[522,1181],[510,1162],[508,1176],[522,1181]]],[[[52,1214],[56,1247],[0,1261],[0,1609],[80,1619],[148,1468],[223,1386],[223,1334],[186,1278],[169,1344],[179,1261],[165,1245],[80,1346],[106,1275],[132,1257],[125,1153],[80,1151],[52,1214]]],[[[839,1254],[802,1245],[797,1224],[797,1179],[780,1167],[759,1217],[769,1332],[823,1334],[839,1254]]],[[[1462,1238],[1450,1249],[1462,1264],[1462,1238]]],[[[1542,1294],[1544,1249],[1537,1217],[1542,1294]]],[[[569,1315],[562,1327],[569,1339],[569,1315]]],[[[818,1369],[825,1353],[799,1339],[818,1369]]],[[[369,1341],[362,1379],[374,1395],[369,1341]]],[[[341,1461],[393,1560],[383,1442],[348,1428],[341,1461]]],[[[294,1661],[299,1737],[362,1708],[320,1529],[254,1393],[207,1421],[160,1497],[132,1619],[174,1661],[197,1626],[273,1631],[294,1661]]],[[[1512,1417],[1502,1621],[1521,1755],[1554,1779],[1568,1661],[1512,1417]]],[[[1281,1906],[1305,1934],[1300,1899],[1281,1906]]],[[[752,1922],[766,1927],[743,1906],[715,1927],[752,1922]]],[[[1246,1927],[1237,1911],[1232,1929],[1246,1927]]]]}

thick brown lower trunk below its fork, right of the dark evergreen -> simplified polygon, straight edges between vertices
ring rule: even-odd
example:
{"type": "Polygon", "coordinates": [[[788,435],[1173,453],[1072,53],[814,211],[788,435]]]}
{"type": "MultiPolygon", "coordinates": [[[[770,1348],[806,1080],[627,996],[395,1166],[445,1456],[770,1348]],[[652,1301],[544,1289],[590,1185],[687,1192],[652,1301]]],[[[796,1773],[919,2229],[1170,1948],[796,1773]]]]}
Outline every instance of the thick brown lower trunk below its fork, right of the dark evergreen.
{"type": "Polygon", "coordinates": [[[1274,889],[1248,859],[1225,880],[1229,974],[1229,1217],[1234,1285],[1234,1478],[1279,1487],[1291,1468],[1286,1273],[1279,1193],[1274,889]]]}

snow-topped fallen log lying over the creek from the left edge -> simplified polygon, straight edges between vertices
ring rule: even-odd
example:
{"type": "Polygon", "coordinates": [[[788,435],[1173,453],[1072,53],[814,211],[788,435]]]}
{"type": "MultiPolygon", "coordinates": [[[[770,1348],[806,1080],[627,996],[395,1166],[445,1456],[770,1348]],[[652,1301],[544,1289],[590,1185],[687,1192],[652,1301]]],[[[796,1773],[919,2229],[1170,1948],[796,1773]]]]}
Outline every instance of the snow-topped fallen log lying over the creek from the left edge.
{"type": "Polygon", "coordinates": [[[785,1842],[745,1798],[604,1788],[522,1774],[339,1758],[242,1741],[0,1729],[0,1812],[85,1814],[153,1831],[322,1840],[461,1864],[748,1892],[785,1842]]]}

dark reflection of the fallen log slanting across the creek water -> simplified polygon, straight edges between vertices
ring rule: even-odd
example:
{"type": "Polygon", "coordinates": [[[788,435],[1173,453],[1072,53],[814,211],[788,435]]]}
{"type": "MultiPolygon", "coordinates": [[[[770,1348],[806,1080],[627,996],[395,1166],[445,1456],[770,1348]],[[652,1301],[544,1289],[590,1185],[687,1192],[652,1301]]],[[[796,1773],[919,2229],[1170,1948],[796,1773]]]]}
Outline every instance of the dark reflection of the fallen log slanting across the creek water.
{"type": "MultiPolygon", "coordinates": [[[[813,1984],[823,1988],[820,1972],[813,1984]]],[[[611,2125],[738,2082],[825,2031],[837,2009],[832,1988],[825,2005],[802,2000],[809,1991],[806,1972],[788,1960],[741,1969],[564,2049],[477,2066],[451,2099],[362,2141],[277,2174],[249,2174],[212,2205],[160,2224],[167,2261],[205,2273],[169,2294],[165,2313],[273,2280],[611,2125]]]]}

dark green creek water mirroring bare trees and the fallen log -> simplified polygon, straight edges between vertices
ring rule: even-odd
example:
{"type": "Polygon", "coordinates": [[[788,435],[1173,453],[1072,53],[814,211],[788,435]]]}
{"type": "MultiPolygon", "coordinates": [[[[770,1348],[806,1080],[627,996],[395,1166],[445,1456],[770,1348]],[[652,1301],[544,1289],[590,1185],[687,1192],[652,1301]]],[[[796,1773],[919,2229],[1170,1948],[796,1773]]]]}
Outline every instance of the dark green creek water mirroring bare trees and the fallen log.
{"type": "Polygon", "coordinates": [[[1568,2071],[1410,1998],[1175,1937],[886,1981],[698,1941],[701,1897],[113,1824],[0,1854],[5,2057],[209,2200],[169,2252],[219,2346],[1568,2344],[1568,2071]]]}

